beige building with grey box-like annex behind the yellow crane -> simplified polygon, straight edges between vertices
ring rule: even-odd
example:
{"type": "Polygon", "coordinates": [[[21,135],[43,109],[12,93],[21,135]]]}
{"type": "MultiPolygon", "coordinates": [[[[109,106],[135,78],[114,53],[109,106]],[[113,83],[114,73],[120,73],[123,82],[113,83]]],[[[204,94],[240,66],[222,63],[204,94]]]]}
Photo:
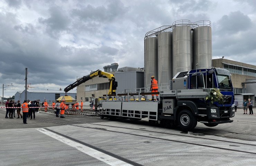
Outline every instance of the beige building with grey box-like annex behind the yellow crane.
{"type": "MultiPolygon", "coordinates": [[[[116,93],[124,93],[125,89],[144,87],[144,68],[118,68],[118,64],[113,63],[104,66],[103,69],[104,71],[113,74],[118,82],[116,93]]],[[[77,80],[79,79],[81,79],[81,77],[77,77],[77,80]]],[[[82,100],[84,105],[90,105],[90,101],[93,98],[102,97],[103,95],[106,95],[108,91],[109,80],[107,78],[95,77],[77,86],[77,100],[78,102],[82,100]]]]}

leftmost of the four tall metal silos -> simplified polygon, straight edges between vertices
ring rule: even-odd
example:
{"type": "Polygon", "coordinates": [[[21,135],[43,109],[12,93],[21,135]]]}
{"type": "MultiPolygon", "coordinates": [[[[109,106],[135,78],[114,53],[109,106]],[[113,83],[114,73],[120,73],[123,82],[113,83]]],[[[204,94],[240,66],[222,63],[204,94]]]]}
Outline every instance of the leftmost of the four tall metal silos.
{"type": "Polygon", "coordinates": [[[145,39],[145,87],[150,88],[151,76],[157,79],[157,37],[145,39]]]}

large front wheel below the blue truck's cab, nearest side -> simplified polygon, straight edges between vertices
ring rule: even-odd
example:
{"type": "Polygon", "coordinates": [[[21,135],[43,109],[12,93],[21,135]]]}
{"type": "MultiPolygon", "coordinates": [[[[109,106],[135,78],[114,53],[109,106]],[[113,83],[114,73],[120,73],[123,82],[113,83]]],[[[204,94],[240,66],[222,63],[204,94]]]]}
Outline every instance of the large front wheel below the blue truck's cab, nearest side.
{"type": "Polygon", "coordinates": [[[195,128],[197,124],[197,119],[189,110],[182,110],[178,114],[177,118],[178,124],[182,130],[191,130],[195,128]]]}

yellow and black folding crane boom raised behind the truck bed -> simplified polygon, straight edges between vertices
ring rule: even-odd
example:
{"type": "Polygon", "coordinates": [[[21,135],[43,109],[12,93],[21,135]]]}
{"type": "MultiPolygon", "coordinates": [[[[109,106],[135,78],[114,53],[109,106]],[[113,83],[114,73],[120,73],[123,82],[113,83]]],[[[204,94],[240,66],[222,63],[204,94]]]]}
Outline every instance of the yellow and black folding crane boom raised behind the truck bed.
{"type": "Polygon", "coordinates": [[[117,81],[114,77],[114,75],[108,73],[108,72],[104,72],[104,71],[101,71],[101,70],[96,70],[96,71],[93,71],[91,72],[91,74],[89,75],[86,75],[86,76],[83,76],[81,79],[75,81],[73,84],[70,84],[68,85],[64,91],[65,92],[68,92],[70,91],[71,89],[81,85],[82,83],[94,78],[94,77],[103,77],[103,78],[108,78],[109,80],[109,92],[108,94],[109,95],[113,95],[113,94],[116,94],[116,89],[117,89],[117,81]]]}

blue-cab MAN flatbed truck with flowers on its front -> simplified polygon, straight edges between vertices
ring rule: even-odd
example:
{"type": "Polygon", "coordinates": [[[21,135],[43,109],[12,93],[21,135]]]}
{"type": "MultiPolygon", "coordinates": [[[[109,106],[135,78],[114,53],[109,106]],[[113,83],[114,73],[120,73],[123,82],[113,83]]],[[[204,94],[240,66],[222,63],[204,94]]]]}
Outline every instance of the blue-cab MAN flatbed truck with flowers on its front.
{"type": "Polygon", "coordinates": [[[230,72],[226,69],[193,69],[178,72],[170,81],[168,90],[143,91],[126,94],[107,94],[100,101],[100,117],[141,120],[150,125],[180,126],[182,130],[195,128],[198,122],[208,127],[232,123],[235,116],[234,93],[230,72]],[[212,89],[220,90],[223,103],[210,104],[207,96],[212,89]],[[159,95],[151,101],[148,95],[159,95]],[[137,98],[138,97],[138,98],[137,98]]]}

